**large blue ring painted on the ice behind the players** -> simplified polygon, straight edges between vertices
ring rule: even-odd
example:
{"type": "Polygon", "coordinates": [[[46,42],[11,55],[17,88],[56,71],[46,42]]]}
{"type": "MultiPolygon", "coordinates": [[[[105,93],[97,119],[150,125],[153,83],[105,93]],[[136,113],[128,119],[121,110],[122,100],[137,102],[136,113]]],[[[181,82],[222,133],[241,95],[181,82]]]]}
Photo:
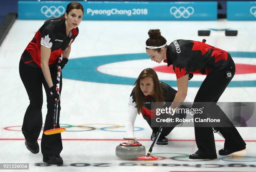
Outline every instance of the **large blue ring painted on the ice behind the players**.
{"type": "MultiPolygon", "coordinates": [[[[256,58],[256,52],[230,52],[232,57],[256,58]]],[[[121,77],[97,71],[97,67],[113,62],[149,59],[146,53],[102,55],[70,59],[64,68],[63,77],[71,80],[106,84],[134,85],[136,78],[121,77]]],[[[143,65],[143,64],[142,64],[143,65]]],[[[171,87],[176,87],[176,80],[161,80],[171,87]]],[[[200,87],[202,81],[189,81],[189,87],[200,87]]],[[[256,87],[256,80],[231,81],[228,87],[256,87]]]]}

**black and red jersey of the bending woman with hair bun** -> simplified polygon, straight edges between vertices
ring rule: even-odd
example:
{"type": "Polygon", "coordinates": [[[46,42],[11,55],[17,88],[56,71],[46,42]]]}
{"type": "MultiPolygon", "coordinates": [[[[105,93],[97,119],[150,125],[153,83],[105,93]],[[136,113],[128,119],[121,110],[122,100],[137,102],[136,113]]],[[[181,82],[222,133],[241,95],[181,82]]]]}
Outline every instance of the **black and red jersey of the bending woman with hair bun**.
{"type": "Polygon", "coordinates": [[[228,64],[228,52],[192,40],[174,40],[167,46],[167,65],[173,65],[177,78],[188,73],[208,75],[212,70],[218,71],[228,64]]]}

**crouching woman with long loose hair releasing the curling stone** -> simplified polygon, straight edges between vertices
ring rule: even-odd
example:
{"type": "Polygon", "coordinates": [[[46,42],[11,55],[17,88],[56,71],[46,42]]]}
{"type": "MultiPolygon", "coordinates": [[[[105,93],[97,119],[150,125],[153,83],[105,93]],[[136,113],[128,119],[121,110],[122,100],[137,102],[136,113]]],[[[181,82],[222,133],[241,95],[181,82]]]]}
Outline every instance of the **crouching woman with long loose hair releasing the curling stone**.
{"type": "MultiPolygon", "coordinates": [[[[129,110],[128,118],[126,121],[126,137],[125,138],[134,138],[134,122],[136,120],[137,114],[142,114],[143,118],[146,120],[148,125],[152,129],[151,140],[154,140],[159,127],[154,125],[151,120],[156,119],[156,112],[154,109],[154,103],[156,102],[165,102],[168,104],[174,100],[177,91],[170,87],[164,82],[160,82],[158,76],[154,69],[146,68],[138,76],[135,87],[133,88],[130,99],[129,99],[129,110]]],[[[163,114],[164,118],[169,116],[163,114]]],[[[184,118],[186,114],[181,114],[180,118],[184,118]]],[[[177,125],[178,123],[175,123],[177,125]]],[[[165,126],[157,140],[157,145],[167,145],[168,139],[167,135],[174,129],[173,126],[165,126]]],[[[134,143],[134,140],[128,140],[129,144],[134,143]]]]}

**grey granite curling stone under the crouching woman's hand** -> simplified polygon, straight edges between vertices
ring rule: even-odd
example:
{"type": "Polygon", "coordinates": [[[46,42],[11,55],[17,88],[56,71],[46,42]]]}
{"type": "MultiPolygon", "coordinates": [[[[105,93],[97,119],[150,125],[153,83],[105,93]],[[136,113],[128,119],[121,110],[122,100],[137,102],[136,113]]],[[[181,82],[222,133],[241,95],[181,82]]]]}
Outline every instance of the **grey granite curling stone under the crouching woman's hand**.
{"type": "Polygon", "coordinates": [[[139,142],[128,144],[126,142],[120,143],[115,148],[115,155],[122,160],[136,160],[146,154],[146,149],[139,142]]]}

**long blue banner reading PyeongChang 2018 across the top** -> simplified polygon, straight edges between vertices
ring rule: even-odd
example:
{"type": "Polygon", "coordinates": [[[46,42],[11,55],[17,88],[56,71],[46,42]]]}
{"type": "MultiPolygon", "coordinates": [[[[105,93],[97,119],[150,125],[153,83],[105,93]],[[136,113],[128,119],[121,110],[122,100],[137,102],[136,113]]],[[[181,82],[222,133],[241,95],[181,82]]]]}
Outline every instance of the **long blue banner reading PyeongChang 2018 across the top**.
{"type": "MultiPolygon", "coordinates": [[[[18,19],[60,17],[70,1],[19,1],[18,19]]],[[[83,20],[217,20],[217,2],[80,2],[83,20]]]]}

